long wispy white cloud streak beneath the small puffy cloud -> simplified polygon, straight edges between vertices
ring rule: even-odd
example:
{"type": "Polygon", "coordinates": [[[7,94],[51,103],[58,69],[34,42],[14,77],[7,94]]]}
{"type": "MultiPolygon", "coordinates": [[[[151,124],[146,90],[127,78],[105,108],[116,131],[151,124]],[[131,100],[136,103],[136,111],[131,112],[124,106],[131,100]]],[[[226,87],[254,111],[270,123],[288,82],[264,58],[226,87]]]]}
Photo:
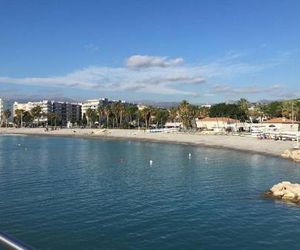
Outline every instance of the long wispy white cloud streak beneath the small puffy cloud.
{"type": "Polygon", "coordinates": [[[191,96],[197,93],[181,90],[180,86],[202,84],[204,81],[201,76],[190,74],[188,68],[181,68],[179,71],[171,68],[131,71],[127,68],[88,67],[65,76],[0,77],[0,83],[191,96]]]}

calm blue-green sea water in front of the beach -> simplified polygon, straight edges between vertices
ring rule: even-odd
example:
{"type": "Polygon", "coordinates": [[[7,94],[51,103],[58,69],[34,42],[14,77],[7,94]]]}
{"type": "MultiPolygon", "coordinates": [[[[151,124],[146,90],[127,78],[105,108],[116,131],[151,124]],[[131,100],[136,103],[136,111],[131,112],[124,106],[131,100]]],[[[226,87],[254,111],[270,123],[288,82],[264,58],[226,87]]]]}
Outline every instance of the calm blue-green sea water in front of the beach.
{"type": "Polygon", "coordinates": [[[0,230],[37,249],[297,249],[300,207],[260,197],[282,180],[300,182],[300,165],[185,145],[1,136],[0,230]]]}

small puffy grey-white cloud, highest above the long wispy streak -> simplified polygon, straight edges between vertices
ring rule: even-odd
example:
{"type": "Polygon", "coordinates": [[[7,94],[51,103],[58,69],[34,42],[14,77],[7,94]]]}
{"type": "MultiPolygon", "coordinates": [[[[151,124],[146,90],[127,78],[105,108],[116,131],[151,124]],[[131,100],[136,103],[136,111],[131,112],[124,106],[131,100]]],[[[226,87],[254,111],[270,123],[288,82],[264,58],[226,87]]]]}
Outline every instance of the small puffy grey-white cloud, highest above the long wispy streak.
{"type": "Polygon", "coordinates": [[[183,63],[182,58],[168,59],[167,57],[133,55],[126,61],[129,68],[173,67],[183,63]]]}

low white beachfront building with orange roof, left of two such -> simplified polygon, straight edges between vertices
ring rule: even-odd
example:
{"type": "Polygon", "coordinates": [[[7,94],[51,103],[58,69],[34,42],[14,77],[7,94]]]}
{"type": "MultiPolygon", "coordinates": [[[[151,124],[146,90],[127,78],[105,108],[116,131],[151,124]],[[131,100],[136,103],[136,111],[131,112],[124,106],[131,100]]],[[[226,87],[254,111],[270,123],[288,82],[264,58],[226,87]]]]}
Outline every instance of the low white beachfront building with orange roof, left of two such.
{"type": "Polygon", "coordinates": [[[239,120],[228,117],[206,117],[203,119],[196,119],[197,128],[204,130],[220,131],[238,131],[244,128],[243,123],[239,120]]]}

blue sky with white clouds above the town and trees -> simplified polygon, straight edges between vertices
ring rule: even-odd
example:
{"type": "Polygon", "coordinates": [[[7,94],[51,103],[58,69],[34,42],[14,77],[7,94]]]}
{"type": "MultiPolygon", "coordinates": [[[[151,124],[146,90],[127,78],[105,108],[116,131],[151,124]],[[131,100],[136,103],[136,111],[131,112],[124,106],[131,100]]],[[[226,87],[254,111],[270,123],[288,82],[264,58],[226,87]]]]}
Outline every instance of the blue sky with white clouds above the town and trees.
{"type": "Polygon", "coordinates": [[[0,97],[300,97],[298,0],[0,0],[0,97]]]}

